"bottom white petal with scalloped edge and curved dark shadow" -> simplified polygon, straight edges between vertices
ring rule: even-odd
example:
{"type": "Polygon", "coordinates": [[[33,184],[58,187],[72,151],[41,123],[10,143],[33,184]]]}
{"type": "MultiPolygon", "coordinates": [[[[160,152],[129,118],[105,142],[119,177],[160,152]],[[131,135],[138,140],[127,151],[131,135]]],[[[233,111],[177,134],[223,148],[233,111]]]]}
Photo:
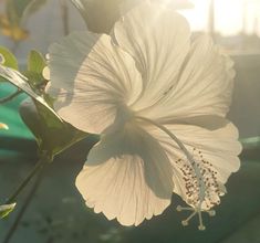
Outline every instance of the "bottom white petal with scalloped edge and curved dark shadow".
{"type": "Polygon", "coordinates": [[[144,130],[127,125],[104,136],[90,152],[76,187],[96,213],[138,225],[160,214],[173,193],[170,162],[144,130]]]}

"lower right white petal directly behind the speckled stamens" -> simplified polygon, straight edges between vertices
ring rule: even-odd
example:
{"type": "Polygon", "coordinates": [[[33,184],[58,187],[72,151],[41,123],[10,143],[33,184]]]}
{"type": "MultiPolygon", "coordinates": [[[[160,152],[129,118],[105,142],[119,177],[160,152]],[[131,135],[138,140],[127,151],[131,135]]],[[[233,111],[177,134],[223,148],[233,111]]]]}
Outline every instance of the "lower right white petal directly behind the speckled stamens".
{"type": "MultiPolygon", "coordinates": [[[[241,145],[238,141],[237,128],[231,123],[215,130],[191,125],[167,125],[166,127],[185,145],[200,168],[200,177],[204,178],[206,192],[209,193],[206,196],[204,207],[208,209],[218,204],[219,196],[225,193],[223,184],[231,172],[236,172],[240,167],[238,155],[241,151],[241,145]],[[202,175],[204,169],[205,175],[202,175]],[[217,187],[208,186],[212,182],[216,182],[217,187]]],[[[194,191],[189,194],[189,190],[194,190],[193,186],[197,183],[197,179],[193,176],[197,177],[197,175],[190,162],[177,144],[162,130],[150,127],[148,131],[160,141],[171,161],[174,192],[187,203],[195,205],[193,200],[198,198],[198,193],[194,191]]]]}

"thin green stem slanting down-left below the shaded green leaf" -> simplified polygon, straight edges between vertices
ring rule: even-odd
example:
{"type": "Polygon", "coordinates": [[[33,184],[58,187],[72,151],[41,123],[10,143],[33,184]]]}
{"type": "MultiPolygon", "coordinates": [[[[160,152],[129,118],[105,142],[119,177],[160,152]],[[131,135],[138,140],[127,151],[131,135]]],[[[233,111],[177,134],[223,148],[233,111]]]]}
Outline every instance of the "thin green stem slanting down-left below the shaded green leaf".
{"type": "Polygon", "coordinates": [[[22,183],[17,188],[17,190],[12,193],[12,196],[6,201],[4,204],[13,203],[20,192],[27,187],[30,180],[43,168],[43,166],[49,162],[49,159],[42,157],[39,162],[34,166],[32,171],[27,176],[27,178],[22,181],[22,183]]]}

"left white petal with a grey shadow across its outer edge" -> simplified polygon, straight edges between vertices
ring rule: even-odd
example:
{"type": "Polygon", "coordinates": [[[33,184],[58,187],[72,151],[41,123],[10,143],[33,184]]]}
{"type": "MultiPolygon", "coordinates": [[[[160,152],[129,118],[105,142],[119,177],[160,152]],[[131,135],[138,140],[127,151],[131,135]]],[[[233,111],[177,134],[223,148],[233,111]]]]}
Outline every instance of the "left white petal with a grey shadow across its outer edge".
{"type": "Polygon", "coordinates": [[[108,35],[74,33],[50,49],[51,83],[60,116],[79,129],[101,134],[142,91],[134,60],[108,35]]]}

